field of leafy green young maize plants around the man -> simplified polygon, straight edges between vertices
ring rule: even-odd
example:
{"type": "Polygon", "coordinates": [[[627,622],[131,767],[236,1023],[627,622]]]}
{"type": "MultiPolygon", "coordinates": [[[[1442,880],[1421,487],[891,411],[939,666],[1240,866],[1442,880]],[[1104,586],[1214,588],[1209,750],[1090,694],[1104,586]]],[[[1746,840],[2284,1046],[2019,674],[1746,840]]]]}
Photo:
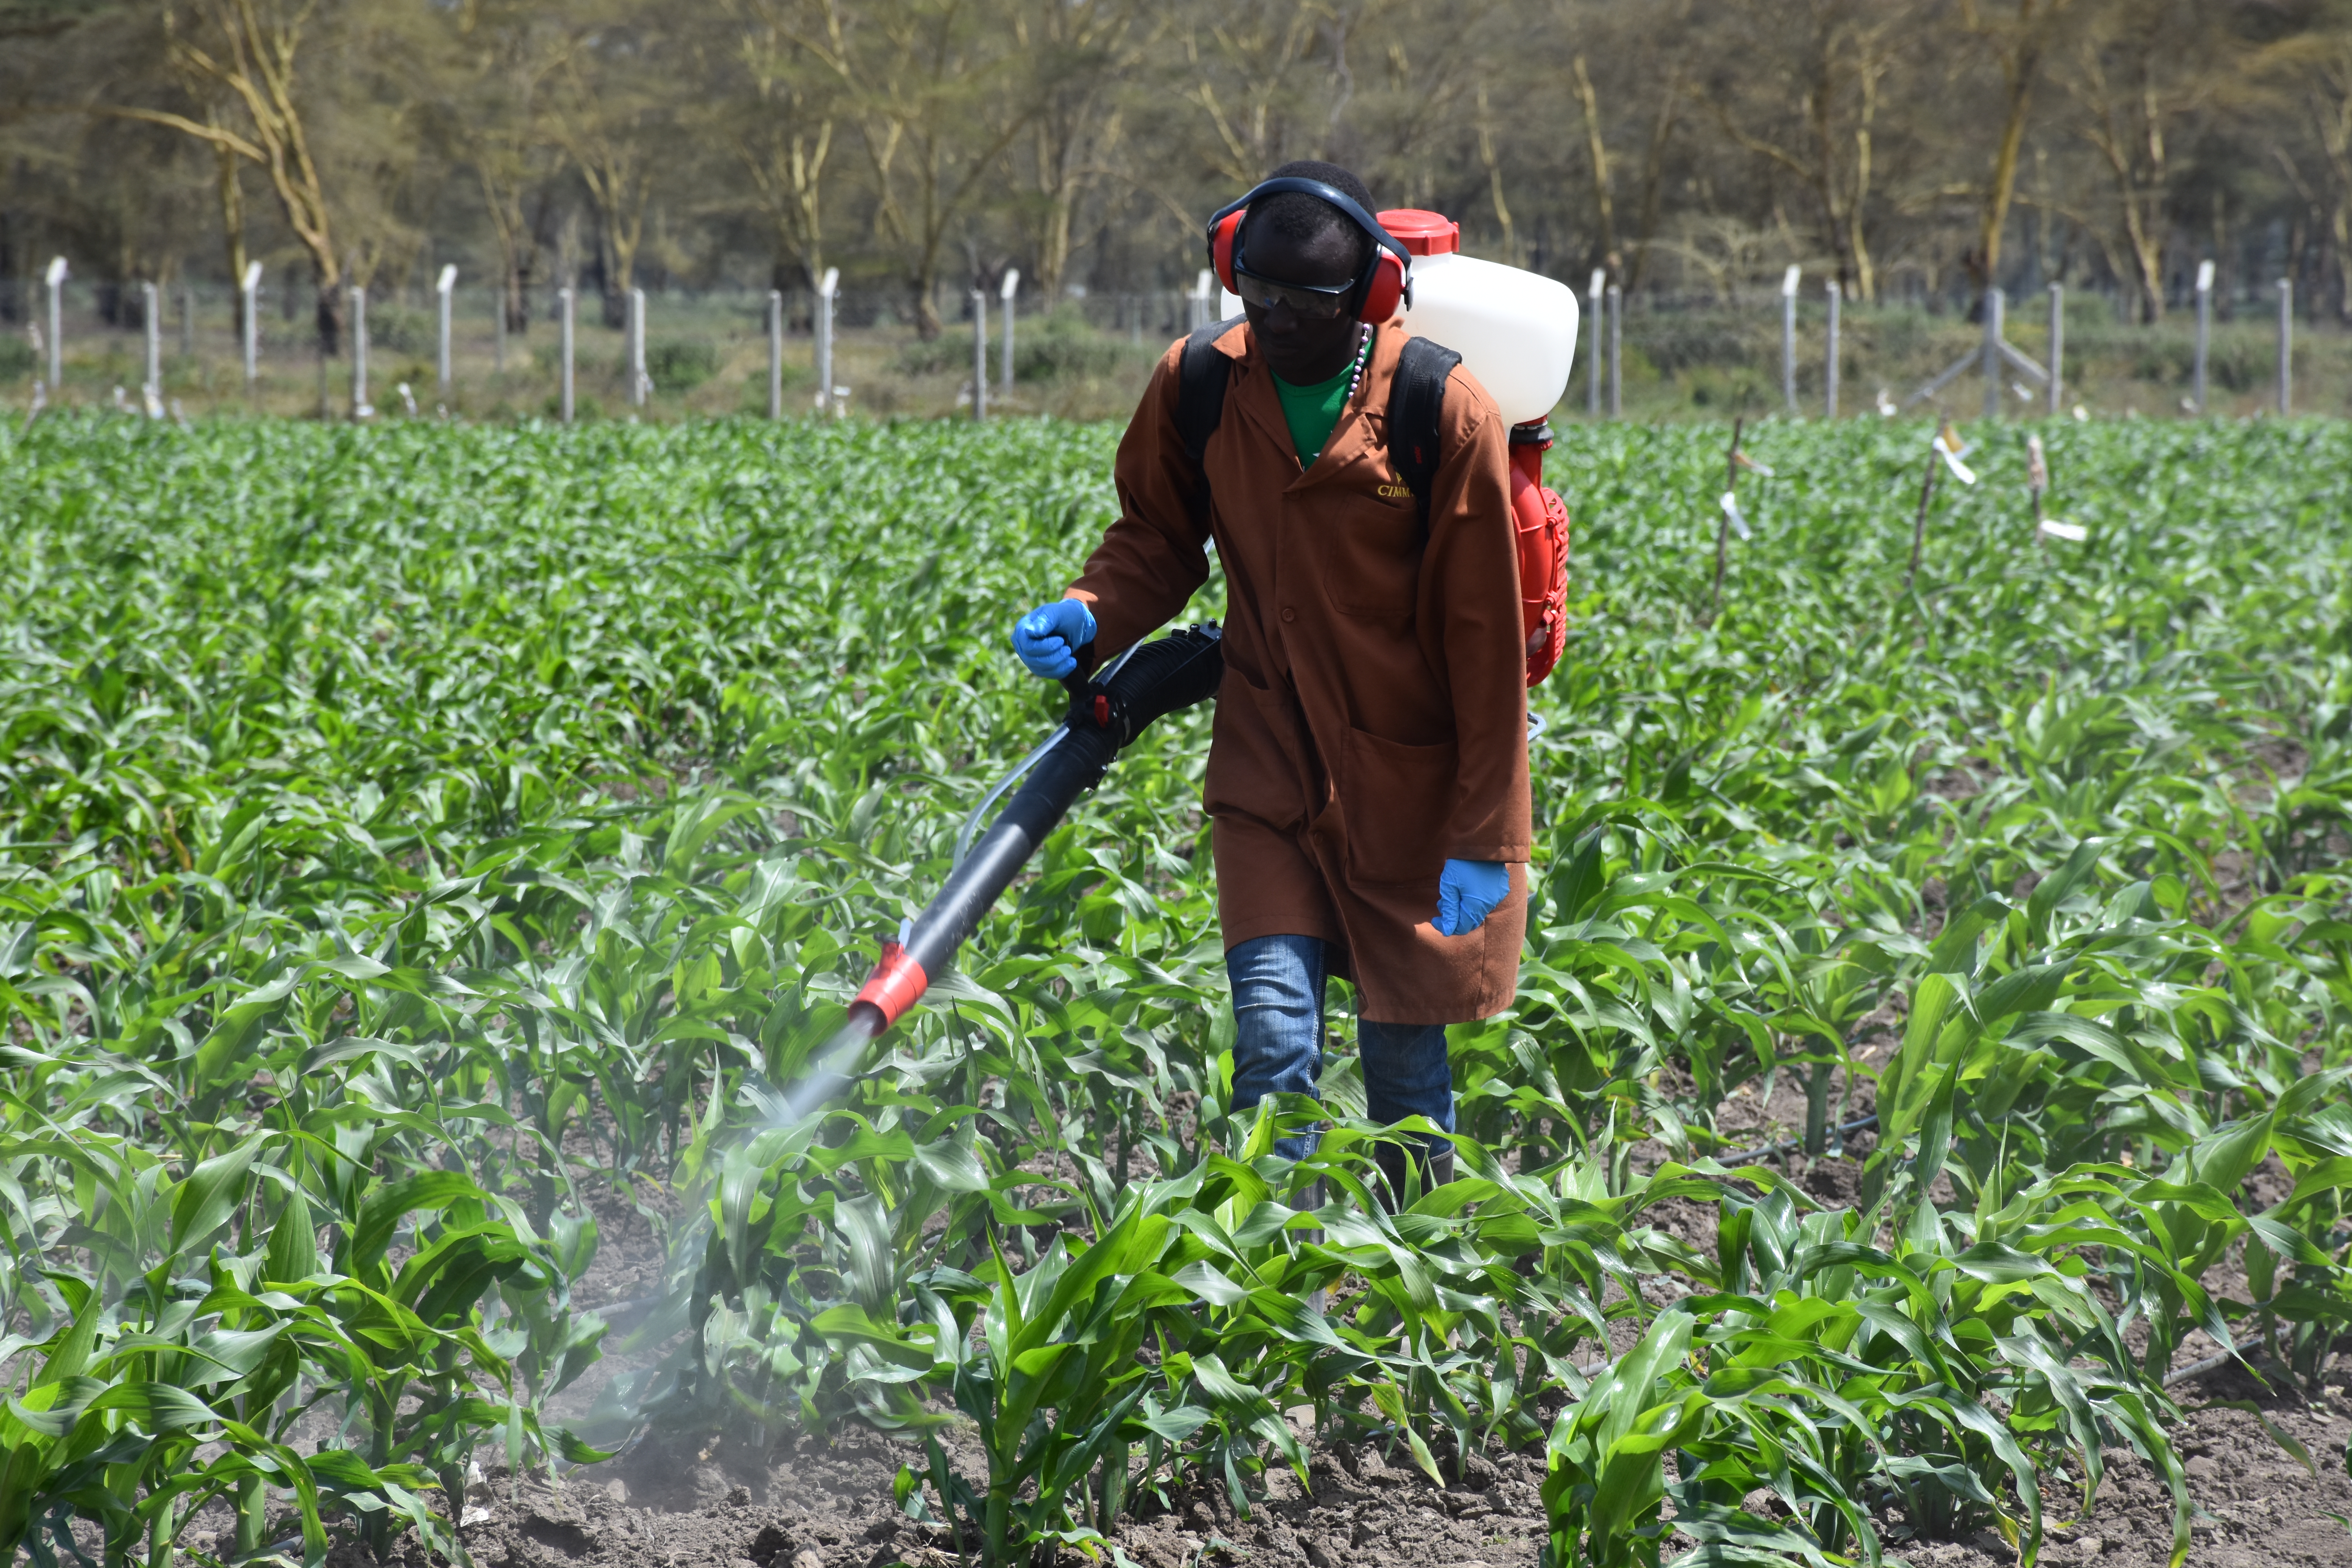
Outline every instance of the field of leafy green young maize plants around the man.
{"type": "Polygon", "coordinates": [[[1115,425],[0,425],[0,1549],[2345,1561],[2352,430],[2042,425],[2079,541],[1931,435],[1752,425],[1719,588],[1726,430],[1552,451],[1519,994],[1388,1213],[1343,994],[1228,1105],[1207,710],[811,1072],[1115,425]]]}

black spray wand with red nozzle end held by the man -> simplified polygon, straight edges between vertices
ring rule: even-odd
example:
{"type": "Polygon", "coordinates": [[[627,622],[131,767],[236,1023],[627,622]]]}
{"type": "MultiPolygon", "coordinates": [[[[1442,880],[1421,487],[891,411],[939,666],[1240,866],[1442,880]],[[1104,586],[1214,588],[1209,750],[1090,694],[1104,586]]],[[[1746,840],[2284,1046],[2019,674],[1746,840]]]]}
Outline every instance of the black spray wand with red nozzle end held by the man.
{"type": "MultiPolygon", "coordinates": [[[[981,924],[988,905],[1021,875],[1070,804],[1101,783],[1112,757],[1152,719],[1216,693],[1225,672],[1218,639],[1216,625],[1190,625],[1138,644],[1103,679],[1073,675],[1063,682],[1070,689],[1070,712],[1023,762],[1023,769],[1030,769],[1028,783],[969,853],[957,858],[948,884],[924,912],[910,919],[896,940],[882,943],[882,961],[849,1004],[844,1034],[873,1039],[898,1023],[931,985],[931,976],[955,961],[955,950],[981,924]]],[[[1021,769],[1014,771],[1014,778],[1018,776],[1021,769]]],[[[983,799],[981,811],[985,809],[983,799]]]]}

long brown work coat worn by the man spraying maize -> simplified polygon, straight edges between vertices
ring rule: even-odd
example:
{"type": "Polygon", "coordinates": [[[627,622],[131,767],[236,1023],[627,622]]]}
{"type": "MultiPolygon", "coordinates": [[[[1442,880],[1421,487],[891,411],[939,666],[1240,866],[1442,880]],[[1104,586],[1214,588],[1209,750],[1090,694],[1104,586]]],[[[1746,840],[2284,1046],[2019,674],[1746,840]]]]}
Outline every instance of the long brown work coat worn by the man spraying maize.
{"type": "Polygon", "coordinates": [[[1120,442],[1120,520],[1068,597],[1115,656],[1225,567],[1225,684],[1202,806],[1225,945],[1317,936],[1376,1023],[1465,1023],[1510,1006],[1526,936],[1526,651],[1508,428],[1456,369],[1421,510],[1388,461],[1404,331],[1381,327],[1364,383],[1305,473],[1272,374],[1235,324],[1209,440],[1207,531],[1176,433],[1169,348],[1120,442]],[[1437,936],[1446,858],[1508,860],[1510,898],[1437,936]]]}

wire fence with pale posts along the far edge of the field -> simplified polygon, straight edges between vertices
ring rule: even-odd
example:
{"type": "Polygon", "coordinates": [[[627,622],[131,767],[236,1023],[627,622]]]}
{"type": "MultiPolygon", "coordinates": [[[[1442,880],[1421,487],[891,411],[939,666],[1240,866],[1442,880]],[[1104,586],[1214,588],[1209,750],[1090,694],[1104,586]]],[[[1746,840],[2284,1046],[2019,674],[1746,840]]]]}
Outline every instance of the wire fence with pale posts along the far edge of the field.
{"type": "MultiPolygon", "coordinates": [[[[66,277],[54,296],[52,327],[45,280],[0,280],[5,402],[475,418],[562,418],[567,407],[574,418],[804,416],[828,407],[1122,416],[1169,341],[1216,310],[1216,296],[1197,289],[1073,294],[1051,308],[1035,292],[1009,306],[990,292],[978,331],[974,299],[950,299],[927,339],[903,289],[840,289],[835,395],[826,397],[821,296],[811,289],[644,292],[635,334],[626,294],[590,292],[572,299],[567,402],[562,296],[553,289],[534,289],[515,310],[499,289],[459,282],[447,301],[447,348],[430,280],[369,294],[365,310],[339,299],[346,320],[334,355],[320,353],[308,287],[263,284],[249,343],[240,292],[219,282],[66,277]],[[983,376],[976,364],[985,364],[983,376]]],[[[2314,320],[2284,292],[2190,299],[2164,322],[2138,324],[2114,296],[2065,292],[2053,310],[2051,294],[2030,294],[2006,301],[1999,331],[1987,336],[1983,306],[1832,301],[1820,282],[1799,282],[1795,294],[1583,292],[1578,364],[1555,421],[2352,414],[2352,334],[2338,322],[2314,320]],[[2056,400],[2046,381],[2053,339],[2056,400]]]]}

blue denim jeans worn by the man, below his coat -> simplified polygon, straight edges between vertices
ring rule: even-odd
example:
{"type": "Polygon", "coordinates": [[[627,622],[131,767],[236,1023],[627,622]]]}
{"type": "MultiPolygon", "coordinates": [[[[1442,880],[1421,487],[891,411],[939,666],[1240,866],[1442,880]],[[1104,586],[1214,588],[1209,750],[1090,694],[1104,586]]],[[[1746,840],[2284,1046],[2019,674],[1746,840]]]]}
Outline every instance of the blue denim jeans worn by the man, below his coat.
{"type": "MultiPolygon", "coordinates": [[[[1312,936],[1261,936],[1225,952],[1232,980],[1232,1110],[1270,1093],[1315,1093],[1322,1077],[1324,945],[1312,936]]],[[[1381,1124],[1428,1117],[1454,1131],[1454,1072],[1446,1067],[1446,1025],[1362,1023],[1364,1112],[1381,1124]]],[[[1284,1159],[1315,1152],[1317,1133],[1277,1138],[1284,1159]]],[[[1430,1152],[1444,1147],[1430,1143],[1430,1152]]]]}

